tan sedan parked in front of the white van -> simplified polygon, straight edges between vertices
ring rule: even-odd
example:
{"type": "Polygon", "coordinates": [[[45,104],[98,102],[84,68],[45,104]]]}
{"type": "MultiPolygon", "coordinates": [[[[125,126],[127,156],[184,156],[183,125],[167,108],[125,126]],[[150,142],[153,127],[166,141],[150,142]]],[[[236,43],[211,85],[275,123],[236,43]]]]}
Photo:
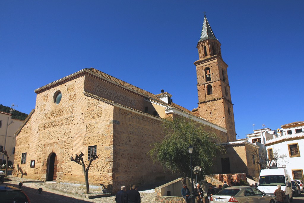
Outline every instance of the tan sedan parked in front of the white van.
{"type": "Polygon", "coordinates": [[[233,186],[226,187],[212,195],[210,203],[218,202],[264,202],[275,203],[275,197],[268,196],[255,187],[233,186]]]}

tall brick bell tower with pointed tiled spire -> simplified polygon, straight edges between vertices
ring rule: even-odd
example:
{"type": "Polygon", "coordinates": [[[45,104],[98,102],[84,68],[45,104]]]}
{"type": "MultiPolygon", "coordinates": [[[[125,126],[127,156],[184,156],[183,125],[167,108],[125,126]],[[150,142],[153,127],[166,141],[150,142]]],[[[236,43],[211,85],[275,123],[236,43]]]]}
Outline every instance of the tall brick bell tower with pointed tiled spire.
{"type": "Polygon", "coordinates": [[[199,115],[207,121],[227,130],[227,140],[236,141],[228,81],[228,65],[223,61],[221,44],[204,18],[201,38],[197,44],[199,60],[194,62],[197,74],[197,91],[199,96],[199,115]]]}

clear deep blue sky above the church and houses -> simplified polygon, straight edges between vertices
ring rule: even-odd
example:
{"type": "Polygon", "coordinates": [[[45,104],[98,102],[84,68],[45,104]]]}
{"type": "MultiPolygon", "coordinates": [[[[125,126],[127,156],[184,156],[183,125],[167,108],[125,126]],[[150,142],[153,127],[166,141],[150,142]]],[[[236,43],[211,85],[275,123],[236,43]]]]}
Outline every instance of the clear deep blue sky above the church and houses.
{"type": "Polygon", "coordinates": [[[34,90],[96,68],[198,106],[197,42],[206,11],[222,44],[237,138],[304,121],[304,1],[0,0],[0,104],[35,108],[34,90]]]}

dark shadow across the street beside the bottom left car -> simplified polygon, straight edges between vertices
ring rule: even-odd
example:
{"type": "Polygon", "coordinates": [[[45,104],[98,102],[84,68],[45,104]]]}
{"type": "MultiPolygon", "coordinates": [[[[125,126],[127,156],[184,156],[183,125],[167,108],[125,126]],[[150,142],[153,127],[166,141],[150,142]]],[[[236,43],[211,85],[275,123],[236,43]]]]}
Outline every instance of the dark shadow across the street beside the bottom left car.
{"type": "MultiPolygon", "coordinates": [[[[3,183],[0,185],[11,185],[14,187],[18,187],[18,184],[13,184],[13,183],[3,183]]],[[[43,186],[42,186],[43,188],[43,186]]],[[[23,185],[21,187],[22,191],[24,191],[26,193],[26,195],[29,197],[31,203],[60,203],[60,202],[64,202],[64,203],[86,203],[86,202],[92,202],[92,201],[86,201],[85,199],[78,199],[78,198],[73,198],[73,197],[67,197],[64,195],[60,195],[60,194],[54,194],[51,192],[46,192],[46,191],[42,191],[41,194],[39,194],[38,189],[35,188],[31,188],[31,187],[26,187],[25,185],[23,185]]],[[[44,188],[43,188],[44,190],[44,188]]]]}

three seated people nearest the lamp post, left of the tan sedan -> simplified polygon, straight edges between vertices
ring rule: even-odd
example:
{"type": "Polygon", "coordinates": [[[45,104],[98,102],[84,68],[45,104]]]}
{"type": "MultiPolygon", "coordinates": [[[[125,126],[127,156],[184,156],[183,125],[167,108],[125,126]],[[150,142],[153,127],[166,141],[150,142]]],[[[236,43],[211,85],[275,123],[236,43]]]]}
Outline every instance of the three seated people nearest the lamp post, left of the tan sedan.
{"type": "MultiPolygon", "coordinates": [[[[207,197],[210,202],[211,195],[215,194],[217,191],[213,189],[213,187],[210,185],[209,189],[207,190],[207,197]]],[[[186,203],[190,203],[191,200],[191,194],[190,190],[187,187],[186,184],[183,184],[183,188],[181,188],[181,195],[186,200],[186,203]]],[[[204,191],[200,187],[200,184],[196,184],[196,187],[194,189],[194,195],[197,203],[206,203],[206,199],[204,198],[204,191]]]]}

